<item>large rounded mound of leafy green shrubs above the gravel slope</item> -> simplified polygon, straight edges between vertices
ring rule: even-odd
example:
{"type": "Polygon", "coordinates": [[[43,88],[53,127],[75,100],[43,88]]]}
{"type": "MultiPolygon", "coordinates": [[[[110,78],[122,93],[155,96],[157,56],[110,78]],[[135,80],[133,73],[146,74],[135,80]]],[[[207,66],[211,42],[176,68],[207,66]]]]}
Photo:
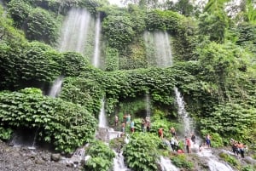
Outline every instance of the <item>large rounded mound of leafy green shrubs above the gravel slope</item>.
{"type": "Polygon", "coordinates": [[[58,151],[72,152],[94,136],[96,119],[90,112],[80,105],[45,97],[37,88],[2,92],[0,103],[1,127],[38,128],[38,138],[52,143],[58,151]]]}

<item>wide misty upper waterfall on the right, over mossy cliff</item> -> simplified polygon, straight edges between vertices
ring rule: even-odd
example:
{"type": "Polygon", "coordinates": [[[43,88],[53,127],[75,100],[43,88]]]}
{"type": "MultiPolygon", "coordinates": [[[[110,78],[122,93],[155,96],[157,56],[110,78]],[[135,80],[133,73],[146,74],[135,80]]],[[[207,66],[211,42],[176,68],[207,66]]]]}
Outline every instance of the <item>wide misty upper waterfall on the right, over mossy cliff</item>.
{"type": "Polygon", "coordinates": [[[172,47],[166,31],[145,31],[143,38],[148,66],[172,66],[172,47]]]}

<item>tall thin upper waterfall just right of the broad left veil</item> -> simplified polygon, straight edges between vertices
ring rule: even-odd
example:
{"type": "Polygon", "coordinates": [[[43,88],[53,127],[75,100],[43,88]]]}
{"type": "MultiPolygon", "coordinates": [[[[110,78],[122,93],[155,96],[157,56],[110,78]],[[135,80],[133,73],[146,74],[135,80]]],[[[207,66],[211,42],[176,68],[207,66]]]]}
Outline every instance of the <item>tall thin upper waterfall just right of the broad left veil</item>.
{"type": "Polygon", "coordinates": [[[100,35],[101,35],[101,18],[98,14],[96,19],[96,34],[95,34],[95,46],[94,46],[94,55],[93,55],[93,66],[100,66],[100,35]]]}

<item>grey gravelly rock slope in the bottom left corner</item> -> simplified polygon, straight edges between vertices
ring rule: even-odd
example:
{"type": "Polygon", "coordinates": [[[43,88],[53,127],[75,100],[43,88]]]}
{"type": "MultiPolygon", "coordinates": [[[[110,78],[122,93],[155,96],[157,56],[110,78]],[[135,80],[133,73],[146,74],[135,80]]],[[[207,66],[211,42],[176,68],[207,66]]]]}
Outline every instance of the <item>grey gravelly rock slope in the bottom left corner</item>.
{"type": "Polygon", "coordinates": [[[65,162],[51,160],[52,152],[28,147],[15,147],[0,142],[1,171],[77,171],[65,162]]]}

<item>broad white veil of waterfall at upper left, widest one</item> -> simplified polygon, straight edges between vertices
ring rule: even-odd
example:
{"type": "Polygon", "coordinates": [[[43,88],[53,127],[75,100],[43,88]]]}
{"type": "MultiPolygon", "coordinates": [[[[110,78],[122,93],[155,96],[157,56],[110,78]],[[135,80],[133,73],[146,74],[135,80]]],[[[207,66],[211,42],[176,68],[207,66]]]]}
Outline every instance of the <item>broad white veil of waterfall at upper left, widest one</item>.
{"type": "Polygon", "coordinates": [[[84,54],[91,16],[86,9],[71,9],[61,28],[58,49],[84,54]]]}

